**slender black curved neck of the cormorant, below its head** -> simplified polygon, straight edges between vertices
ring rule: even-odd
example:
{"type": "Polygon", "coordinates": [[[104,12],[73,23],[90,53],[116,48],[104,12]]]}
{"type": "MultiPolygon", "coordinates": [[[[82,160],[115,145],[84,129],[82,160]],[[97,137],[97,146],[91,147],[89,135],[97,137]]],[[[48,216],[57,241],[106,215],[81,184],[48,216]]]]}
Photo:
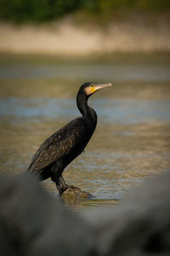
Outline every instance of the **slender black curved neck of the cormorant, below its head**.
{"type": "Polygon", "coordinates": [[[97,114],[95,113],[93,108],[88,106],[88,96],[84,94],[77,94],[77,108],[82,113],[82,116],[88,121],[92,121],[94,125],[97,123],[97,114]]]}

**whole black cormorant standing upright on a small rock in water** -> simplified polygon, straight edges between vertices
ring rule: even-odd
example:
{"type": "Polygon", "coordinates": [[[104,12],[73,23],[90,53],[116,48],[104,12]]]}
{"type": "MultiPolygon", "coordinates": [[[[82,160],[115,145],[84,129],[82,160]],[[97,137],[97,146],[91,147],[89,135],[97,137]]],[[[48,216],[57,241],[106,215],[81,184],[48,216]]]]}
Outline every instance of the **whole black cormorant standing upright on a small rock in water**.
{"type": "Polygon", "coordinates": [[[70,123],[48,137],[31,160],[27,171],[41,180],[51,177],[56,183],[59,195],[69,187],[62,177],[62,172],[82,153],[97,124],[97,114],[93,108],[88,106],[88,97],[107,86],[111,86],[111,83],[82,84],[77,93],[77,108],[82,113],[82,117],[71,120],[70,123]]]}

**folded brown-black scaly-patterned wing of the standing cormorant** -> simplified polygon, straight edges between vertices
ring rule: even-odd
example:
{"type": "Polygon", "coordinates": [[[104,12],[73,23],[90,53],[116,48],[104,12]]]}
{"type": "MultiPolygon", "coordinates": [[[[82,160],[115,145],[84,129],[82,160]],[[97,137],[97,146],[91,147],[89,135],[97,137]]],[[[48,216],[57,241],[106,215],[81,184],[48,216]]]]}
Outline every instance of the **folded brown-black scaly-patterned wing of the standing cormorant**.
{"type": "Polygon", "coordinates": [[[64,155],[69,154],[71,150],[82,142],[84,133],[85,125],[83,124],[83,119],[72,120],[71,123],[56,131],[42,143],[36,154],[34,154],[28,171],[38,172],[64,155]]]}

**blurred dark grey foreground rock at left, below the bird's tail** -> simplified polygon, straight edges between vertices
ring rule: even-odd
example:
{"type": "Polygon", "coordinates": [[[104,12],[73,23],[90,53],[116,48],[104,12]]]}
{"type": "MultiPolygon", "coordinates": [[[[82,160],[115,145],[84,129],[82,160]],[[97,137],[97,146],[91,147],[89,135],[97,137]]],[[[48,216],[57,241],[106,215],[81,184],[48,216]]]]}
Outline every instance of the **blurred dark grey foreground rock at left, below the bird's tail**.
{"type": "Polygon", "coordinates": [[[0,178],[0,255],[95,255],[94,246],[89,224],[35,178],[0,178]]]}

